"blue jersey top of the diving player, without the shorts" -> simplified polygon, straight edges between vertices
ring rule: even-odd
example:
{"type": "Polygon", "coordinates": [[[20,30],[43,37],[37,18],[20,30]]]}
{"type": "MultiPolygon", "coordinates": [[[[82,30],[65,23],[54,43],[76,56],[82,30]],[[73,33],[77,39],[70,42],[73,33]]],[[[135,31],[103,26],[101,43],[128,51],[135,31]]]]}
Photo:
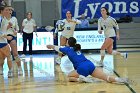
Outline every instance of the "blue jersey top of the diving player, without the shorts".
{"type": "Polygon", "coordinates": [[[59,49],[62,53],[67,54],[70,61],[73,63],[75,69],[81,62],[85,62],[88,59],[80,51],[74,51],[73,47],[63,47],[59,49]]]}

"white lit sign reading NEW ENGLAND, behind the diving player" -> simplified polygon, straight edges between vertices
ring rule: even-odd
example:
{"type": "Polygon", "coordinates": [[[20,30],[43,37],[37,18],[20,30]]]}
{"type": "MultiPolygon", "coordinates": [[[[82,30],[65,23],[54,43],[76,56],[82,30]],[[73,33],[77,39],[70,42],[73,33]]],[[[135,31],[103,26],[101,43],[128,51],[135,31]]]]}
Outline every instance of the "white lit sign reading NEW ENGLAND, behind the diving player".
{"type": "MultiPolygon", "coordinates": [[[[58,45],[60,44],[61,32],[58,32],[58,45]]],[[[100,49],[104,42],[104,34],[99,34],[97,30],[75,31],[74,37],[82,49],[100,49]]]]}

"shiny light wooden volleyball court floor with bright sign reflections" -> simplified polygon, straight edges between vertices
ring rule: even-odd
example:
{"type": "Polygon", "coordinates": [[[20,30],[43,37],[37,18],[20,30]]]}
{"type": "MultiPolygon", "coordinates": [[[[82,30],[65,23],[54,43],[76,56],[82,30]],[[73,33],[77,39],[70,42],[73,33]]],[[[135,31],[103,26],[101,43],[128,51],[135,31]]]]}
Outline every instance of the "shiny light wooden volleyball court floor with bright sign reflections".
{"type": "MultiPolygon", "coordinates": [[[[85,54],[91,61],[98,61],[99,54],[85,54]]],[[[0,75],[0,93],[139,93],[140,92],[140,53],[129,53],[124,60],[119,56],[106,55],[104,65],[108,69],[104,72],[113,75],[128,77],[131,84],[112,84],[95,79],[93,83],[68,82],[66,73],[69,64],[56,65],[54,54],[34,54],[22,59],[23,76],[18,76],[16,63],[13,62],[14,77],[8,78],[7,62],[4,64],[3,75],[0,75]],[[112,69],[112,70],[110,70],[112,69]],[[61,72],[63,71],[63,72],[61,72]]],[[[67,60],[67,57],[63,58],[67,60]]],[[[96,65],[96,63],[94,63],[96,65]]]]}

